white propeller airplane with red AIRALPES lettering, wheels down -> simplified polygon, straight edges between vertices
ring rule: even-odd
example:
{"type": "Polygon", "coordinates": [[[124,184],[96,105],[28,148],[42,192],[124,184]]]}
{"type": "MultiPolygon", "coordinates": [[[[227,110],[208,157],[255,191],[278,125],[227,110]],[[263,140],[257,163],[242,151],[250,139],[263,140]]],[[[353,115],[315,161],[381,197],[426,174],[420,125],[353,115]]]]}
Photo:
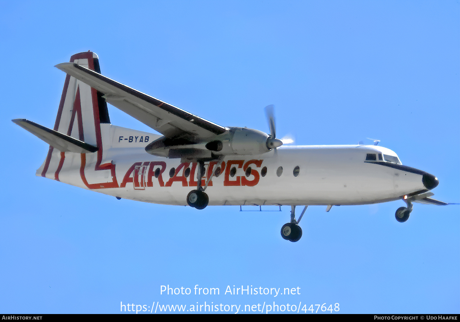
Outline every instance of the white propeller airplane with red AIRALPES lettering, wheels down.
{"type": "Polygon", "coordinates": [[[270,134],[224,127],[101,74],[98,56],[81,52],[55,67],[65,72],[53,129],[27,119],[12,121],[50,145],[36,175],[116,197],[189,205],[290,205],[281,236],[297,242],[309,205],[360,205],[403,200],[399,222],[412,203],[447,205],[430,198],[439,181],[403,165],[374,145],[287,146],[270,134]],[[110,123],[107,102],[159,134],[110,123]],[[295,207],[304,205],[295,218],[295,207]]]}

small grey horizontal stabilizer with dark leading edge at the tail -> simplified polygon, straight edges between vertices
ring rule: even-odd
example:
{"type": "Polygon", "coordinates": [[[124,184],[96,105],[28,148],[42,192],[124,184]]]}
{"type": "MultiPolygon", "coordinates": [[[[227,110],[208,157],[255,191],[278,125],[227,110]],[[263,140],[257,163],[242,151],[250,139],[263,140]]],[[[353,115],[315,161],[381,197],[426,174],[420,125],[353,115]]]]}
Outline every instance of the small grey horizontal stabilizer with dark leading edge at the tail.
{"type": "Polygon", "coordinates": [[[21,126],[23,129],[28,130],[30,133],[39,137],[52,147],[57,148],[61,152],[93,153],[98,151],[98,148],[92,146],[91,144],[77,140],[55,130],[48,129],[27,119],[12,119],[11,121],[21,126]]]}

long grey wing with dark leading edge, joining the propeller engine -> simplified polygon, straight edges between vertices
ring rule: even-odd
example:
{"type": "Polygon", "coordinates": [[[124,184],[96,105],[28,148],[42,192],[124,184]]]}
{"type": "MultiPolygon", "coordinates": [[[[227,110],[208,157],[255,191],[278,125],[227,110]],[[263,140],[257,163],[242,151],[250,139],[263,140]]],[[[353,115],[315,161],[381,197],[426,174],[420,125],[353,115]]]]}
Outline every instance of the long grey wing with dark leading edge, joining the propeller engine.
{"type": "Polygon", "coordinates": [[[107,102],[167,138],[207,141],[228,130],[77,63],[64,62],[55,67],[100,91],[107,102]]]}

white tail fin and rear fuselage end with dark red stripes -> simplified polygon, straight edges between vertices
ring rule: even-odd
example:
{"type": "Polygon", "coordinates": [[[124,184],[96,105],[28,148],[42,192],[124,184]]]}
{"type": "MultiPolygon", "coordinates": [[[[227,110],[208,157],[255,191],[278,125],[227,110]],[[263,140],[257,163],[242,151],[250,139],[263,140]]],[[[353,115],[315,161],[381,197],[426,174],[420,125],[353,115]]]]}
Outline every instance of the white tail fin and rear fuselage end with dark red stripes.
{"type": "MultiPolygon", "coordinates": [[[[75,62],[98,73],[101,72],[98,56],[91,51],[71,56],[70,62],[75,62]]],[[[37,170],[36,175],[62,181],[59,178],[62,172],[61,177],[68,176],[66,181],[68,183],[70,183],[69,180],[74,181],[71,184],[77,186],[84,185],[89,189],[118,187],[115,165],[101,164],[104,153],[101,128],[108,131],[109,124],[109,112],[103,94],[67,75],[54,130],[96,146],[98,152],[93,153],[94,155],[64,153],[50,146],[45,162],[37,170]],[[91,176],[88,175],[86,179],[90,171],[91,176]],[[80,184],[74,180],[78,172],[82,181],[79,182],[80,184]]]]}

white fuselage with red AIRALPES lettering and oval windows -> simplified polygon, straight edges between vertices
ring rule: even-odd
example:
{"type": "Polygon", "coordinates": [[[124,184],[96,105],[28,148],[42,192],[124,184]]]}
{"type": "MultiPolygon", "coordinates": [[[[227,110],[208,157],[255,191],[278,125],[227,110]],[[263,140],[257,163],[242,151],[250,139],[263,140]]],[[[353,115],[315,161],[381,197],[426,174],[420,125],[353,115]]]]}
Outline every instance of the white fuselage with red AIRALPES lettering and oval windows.
{"type": "MultiPolygon", "coordinates": [[[[91,154],[86,154],[82,167],[80,154],[65,153],[61,168],[57,166],[58,175],[48,171],[46,177],[120,198],[187,205],[187,194],[197,185],[196,163],[150,155],[144,150],[144,140],[142,143],[125,140],[146,133],[126,133],[133,130],[107,125],[111,127],[106,132],[110,135],[103,140],[110,143],[106,144],[101,166],[96,167],[97,160],[91,154]],[[112,168],[104,169],[104,164],[112,168]],[[94,188],[99,181],[111,181],[113,187],[94,188]]],[[[150,136],[150,141],[157,137],[150,136]]],[[[227,156],[219,164],[220,175],[214,176],[206,189],[209,205],[369,204],[426,191],[422,171],[389,166],[383,161],[366,162],[368,153],[397,158],[384,147],[362,145],[281,147],[260,155],[227,156]],[[262,175],[265,167],[266,174],[262,175]]],[[[217,162],[205,163],[202,186],[217,166],[217,162]]]]}

